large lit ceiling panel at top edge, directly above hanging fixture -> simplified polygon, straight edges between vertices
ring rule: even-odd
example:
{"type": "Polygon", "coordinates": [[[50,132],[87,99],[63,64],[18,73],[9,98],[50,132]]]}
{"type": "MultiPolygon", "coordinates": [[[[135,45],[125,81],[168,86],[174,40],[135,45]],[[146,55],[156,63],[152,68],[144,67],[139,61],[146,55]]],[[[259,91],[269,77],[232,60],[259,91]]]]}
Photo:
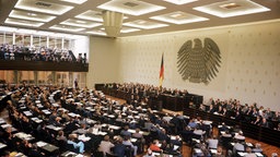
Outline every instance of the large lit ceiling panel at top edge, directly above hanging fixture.
{"type": "Polygon", "coordinates": [[[142,15],[165,9],[165,7],[155,5],[138,0],[112,0],[98,5],[97,8],[130,15],[142,15]]]}

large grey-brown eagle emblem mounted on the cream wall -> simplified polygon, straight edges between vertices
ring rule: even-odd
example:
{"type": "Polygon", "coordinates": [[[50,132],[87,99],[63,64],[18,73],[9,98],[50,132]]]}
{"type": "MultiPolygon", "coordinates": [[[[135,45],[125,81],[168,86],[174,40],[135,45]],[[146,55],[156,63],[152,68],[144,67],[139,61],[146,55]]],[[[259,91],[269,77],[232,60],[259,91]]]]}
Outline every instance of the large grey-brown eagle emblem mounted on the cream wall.
{"type": "Polygon", "coordinates": [[[220,49],[210,38],[205,38],[205,45],[198,38],[186,41],[177,52],[177,68],[184,81],[208,84],[217,76],[221,63],[220,49]]]}

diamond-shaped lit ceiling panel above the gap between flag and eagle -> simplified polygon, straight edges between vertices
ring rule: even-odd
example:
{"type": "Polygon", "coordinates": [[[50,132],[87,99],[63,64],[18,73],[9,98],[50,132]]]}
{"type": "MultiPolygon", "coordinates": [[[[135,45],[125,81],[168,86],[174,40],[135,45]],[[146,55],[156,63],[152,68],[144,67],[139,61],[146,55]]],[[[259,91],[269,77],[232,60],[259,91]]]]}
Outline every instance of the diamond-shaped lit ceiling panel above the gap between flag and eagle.
{"type": "Polygon", "coordinates": [[[182,11],[172,12],[163,15],[152,16],[152,20],[158,20],[162,22],[173,23],[173,24],[187,24],[201,21],[208,21],[209,19],[197,16],[194,14],[185,13],[182,11]]]}

